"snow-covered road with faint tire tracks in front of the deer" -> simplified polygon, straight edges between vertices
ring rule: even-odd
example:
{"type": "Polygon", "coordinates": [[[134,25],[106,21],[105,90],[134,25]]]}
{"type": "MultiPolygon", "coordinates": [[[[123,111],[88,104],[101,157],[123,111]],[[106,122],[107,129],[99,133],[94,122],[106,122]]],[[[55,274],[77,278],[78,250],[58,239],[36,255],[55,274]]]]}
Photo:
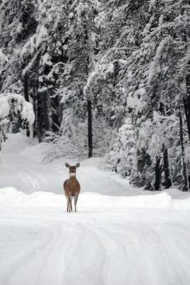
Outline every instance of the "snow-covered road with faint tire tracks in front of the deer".
{"type": "Polygon", "coordinates": [[[189,217],[137,210],[1,211],[1,284],[189,284],[189,217]]]}

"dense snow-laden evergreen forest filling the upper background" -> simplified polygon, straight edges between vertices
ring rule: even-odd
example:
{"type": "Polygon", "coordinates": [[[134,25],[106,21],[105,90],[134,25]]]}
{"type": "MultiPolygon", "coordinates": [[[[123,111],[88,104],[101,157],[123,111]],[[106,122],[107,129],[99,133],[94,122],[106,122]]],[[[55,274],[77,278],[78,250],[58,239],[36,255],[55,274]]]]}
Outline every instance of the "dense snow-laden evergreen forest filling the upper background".
{"type": "Polygon", "coordinates": [[[0,93],[33,104],[47,161],[101,156],[136,187],[189,190],[189,7],[0,0],[0,93]]]}

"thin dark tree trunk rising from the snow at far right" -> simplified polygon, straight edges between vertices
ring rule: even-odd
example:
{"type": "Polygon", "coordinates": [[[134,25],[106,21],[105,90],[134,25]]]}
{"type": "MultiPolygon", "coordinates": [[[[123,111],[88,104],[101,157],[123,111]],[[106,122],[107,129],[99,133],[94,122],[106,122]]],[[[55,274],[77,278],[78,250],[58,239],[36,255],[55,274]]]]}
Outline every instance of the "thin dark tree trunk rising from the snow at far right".
{"type": "Polygon", "coordinates": [[[185,155],[185,147],[184,147],[184,133],[183,133],[183,120],[181,116],[181,108],[179,107],[179,135],[181,141],[181,156],[183,163],[183,177],[184,177],[184,186],[182,188],[183,191],[189,190],[189,181],[188,181],[188,172],[186,167],[186,155],[185,155]]]}

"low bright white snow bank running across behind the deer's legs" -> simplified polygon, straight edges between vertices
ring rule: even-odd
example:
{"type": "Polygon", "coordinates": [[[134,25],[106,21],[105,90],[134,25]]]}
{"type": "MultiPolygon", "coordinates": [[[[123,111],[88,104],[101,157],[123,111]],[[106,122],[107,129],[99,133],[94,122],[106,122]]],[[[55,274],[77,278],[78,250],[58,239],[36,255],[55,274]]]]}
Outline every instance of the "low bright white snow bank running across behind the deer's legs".
{"type": "MultiPolygon", "coordinates": [[[[179,190],[174,191],[178,192],[179,190]]],[[[64,195],[56,195],[51,192],[33,192],[27,195],[13,187],[0,189],[0,207],[63,207],[65,209],[65,204],[64,195]]],[[[190,210],[190,197],[186,199],[172,199],[167,192],[131,197],[106,196],[93,192],[81,193],[78,208],[80,210],[87,207],[100,210],[107,208],[190,210]]]]}

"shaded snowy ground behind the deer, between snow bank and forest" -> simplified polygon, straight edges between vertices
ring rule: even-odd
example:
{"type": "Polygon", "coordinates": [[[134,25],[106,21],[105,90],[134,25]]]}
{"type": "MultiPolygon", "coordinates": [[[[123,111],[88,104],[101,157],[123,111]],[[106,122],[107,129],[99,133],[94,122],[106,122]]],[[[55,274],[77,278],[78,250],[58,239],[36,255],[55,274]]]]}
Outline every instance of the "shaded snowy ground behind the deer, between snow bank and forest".
{"type": "MultiPolygon", "coordinates": [[[[43,163],[41,153],[48,147],[46,144],[28,145],[22,135],[9,135],[1,153],[0,187],[16,187],[30,194],[36,191],[63,193],[63,181],[68,178],[66,159],[43,163]]],[[[76,163],[78,160],[68,160],[76,163]]],[[[104,195],[125,195],[126,187],[116,181],[117,175],[97,170],[100,160],[85,160],[80,163],[77,177],[82,192],[98,192],[104,195]],[[112,177],[115,177],[112,178],[112,177]]]]}

